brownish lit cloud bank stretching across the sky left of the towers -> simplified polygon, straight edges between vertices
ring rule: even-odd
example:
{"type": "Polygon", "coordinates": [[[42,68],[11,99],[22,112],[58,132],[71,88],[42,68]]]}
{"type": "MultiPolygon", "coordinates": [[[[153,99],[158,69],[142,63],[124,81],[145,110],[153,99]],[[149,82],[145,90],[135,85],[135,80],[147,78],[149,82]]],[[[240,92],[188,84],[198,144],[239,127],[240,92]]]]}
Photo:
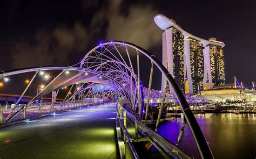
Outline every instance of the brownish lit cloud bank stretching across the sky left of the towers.
{"type": "MultiPolygon", "coordinates": [[[[12,49],[12,62],[16,68],[67,64],[74,53],[89,51],[89,40],[105,33],[105,41],[129,41],[145,49],[161,43],[161,31],[154,24],[157,14],[152,6],[131,5],[127,14],[120,13],[123,1],[112,0],[95,12],[90,25],[80,21],[70,26],[60,25],[51,30],[42,28],[31,40],[19,39],[12,49]],[[29,62],[24,62],[29,61],[29,62]]],[[[100,1],[83,1],[82,9],[94,8],[100,1]]],[[[86,16],[86,13],[83,13],[86,16]]],[[[98,40],[98,39],[96,39],[98,40]]],[[[77,59],[78,60],[78,59],[77,59]]]]}

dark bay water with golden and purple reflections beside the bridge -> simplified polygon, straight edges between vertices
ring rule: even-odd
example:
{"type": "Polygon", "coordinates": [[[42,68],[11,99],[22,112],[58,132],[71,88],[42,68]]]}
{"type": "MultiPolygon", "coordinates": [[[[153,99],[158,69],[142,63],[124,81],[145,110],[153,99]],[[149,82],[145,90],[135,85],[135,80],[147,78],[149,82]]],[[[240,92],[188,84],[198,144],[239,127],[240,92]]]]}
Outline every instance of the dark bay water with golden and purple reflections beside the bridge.
{"type": "MultiPolygon", "coordinates": [[[[256,157],[256,114],[195,114],[215,158],[255,158],[256,157]]],[[[173,143],[177,143],[183,118],[164,121],[158,133],[173,143]]],[[[185,127],[180,147],[200,158],[188,126],[185,127]]]]}

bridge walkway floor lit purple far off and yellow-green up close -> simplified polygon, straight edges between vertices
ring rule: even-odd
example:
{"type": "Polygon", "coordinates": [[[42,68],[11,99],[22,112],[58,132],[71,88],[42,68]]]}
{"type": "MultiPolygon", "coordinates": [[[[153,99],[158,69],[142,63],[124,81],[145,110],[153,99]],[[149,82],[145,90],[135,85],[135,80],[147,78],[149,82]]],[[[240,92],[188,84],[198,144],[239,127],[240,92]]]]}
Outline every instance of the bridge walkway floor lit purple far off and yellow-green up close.
{"type": "Polygon", "coordinates": [[[117,158],[115,116],[106,104],[2,128],[0,158],[117,158]]]}

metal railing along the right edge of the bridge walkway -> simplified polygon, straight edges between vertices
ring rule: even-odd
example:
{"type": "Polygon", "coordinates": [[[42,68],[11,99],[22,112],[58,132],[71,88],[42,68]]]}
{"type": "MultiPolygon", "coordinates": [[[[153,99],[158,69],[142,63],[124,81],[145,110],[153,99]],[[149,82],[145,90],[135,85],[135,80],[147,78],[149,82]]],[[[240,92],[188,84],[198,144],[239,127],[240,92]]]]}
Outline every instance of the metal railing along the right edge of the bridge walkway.
{"type": "Polygon", "coordinates": [[[122,158],[127,157],[127,155],[138,158],[138,152],[142,155],[142,150],[134,147],[136,145],[141,146],[141,144],[146,146],[147,152],[145,153],[154,154],[154,157],[157,158],[193,158],[147,127],[143,122],[137,120],[136,115],[125,110],[120,104],[117,104],[116,125],[119,151],[122,158]]]}

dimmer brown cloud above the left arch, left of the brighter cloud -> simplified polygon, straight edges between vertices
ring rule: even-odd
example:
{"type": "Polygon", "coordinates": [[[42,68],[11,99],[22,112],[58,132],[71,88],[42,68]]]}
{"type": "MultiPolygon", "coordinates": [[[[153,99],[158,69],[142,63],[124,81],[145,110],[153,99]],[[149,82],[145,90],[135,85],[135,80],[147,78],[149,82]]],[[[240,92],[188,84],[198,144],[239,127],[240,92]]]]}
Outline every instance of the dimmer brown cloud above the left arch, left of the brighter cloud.
{"type": "Polygon", "coordinates": [[[16,68],[67,64],[71,52],[84,52],[89,33],[79,22],[72,28],[56,27],[39,30],[31,40],[20,39],[12,49],[12,62],[16,68]]]}

